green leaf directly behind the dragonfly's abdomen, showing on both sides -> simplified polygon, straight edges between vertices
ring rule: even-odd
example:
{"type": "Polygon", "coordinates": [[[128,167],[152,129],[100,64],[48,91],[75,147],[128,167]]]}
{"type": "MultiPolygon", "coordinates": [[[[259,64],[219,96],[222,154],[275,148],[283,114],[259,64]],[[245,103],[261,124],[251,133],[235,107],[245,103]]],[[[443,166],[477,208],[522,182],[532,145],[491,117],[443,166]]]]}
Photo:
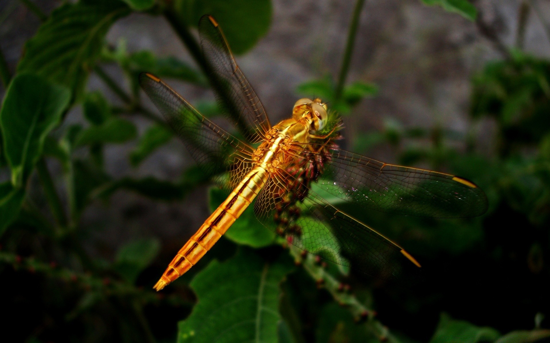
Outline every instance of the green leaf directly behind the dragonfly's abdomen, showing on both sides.
{"type": "MultiPolygon", "coordinates": [[[[213,212],[226,200],[229,194],[217,187],[210,188],[208,204],[213,212]]],[[[274,243],[276,234],[263,226],[254,215],[254,205],[248,206],[243,214],[227,230],[225,237],[238,244],[248,245],[252,248],[262,248],[274,243]]]]}

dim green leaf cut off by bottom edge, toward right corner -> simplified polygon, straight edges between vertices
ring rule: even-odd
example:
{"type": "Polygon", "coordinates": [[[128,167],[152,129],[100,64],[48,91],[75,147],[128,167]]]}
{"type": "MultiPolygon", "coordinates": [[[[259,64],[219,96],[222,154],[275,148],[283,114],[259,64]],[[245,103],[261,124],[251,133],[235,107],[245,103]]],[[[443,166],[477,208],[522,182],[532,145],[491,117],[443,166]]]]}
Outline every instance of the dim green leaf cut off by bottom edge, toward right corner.
{"type": "Polygon", "coordinates": [[[442,313],[436,333],[430,343],[477,343],[492,342],[500,334],[497,330],[476,325],[465,320],[454,320],[448,314],[442,313]]]}

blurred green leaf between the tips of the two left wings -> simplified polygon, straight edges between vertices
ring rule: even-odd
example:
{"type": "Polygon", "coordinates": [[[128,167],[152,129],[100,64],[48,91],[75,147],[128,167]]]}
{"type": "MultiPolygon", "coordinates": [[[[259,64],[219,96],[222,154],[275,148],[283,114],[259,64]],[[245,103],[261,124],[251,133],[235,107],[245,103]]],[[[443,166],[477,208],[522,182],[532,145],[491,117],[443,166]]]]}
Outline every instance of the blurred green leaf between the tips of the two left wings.
{"type": "Polygon", "coordinates": [[[208,85],[206,78],[189,64],[173,56],[157,57],[150,50],[131,54],[128,57],[128,68],[135,74],[150,72],[158,77],[177,78],[200,86],[208,85]]]}

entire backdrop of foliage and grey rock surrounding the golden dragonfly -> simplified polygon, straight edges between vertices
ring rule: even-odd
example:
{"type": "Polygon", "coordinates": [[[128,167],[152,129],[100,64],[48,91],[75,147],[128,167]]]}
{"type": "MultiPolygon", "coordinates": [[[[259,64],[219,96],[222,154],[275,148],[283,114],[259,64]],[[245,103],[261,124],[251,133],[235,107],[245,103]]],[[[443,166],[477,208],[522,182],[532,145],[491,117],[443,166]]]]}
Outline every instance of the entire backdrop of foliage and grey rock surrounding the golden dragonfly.
{"type": "Polygon", "coordinates": [[[3,1],[2,335],[548,340],[549,54],[546,0],[3,1]],[[272,122],[298,97],[320,96],[343,116],[344,148],[469,178],[488,212],[435,220],[342,206],[422,263],[421,282],[386,284],[283,249],[248,211],[155,293],[224,194],[140,94],[137,76],[166,79],[219,119],[197,63],[205,13],[272,122]]]}

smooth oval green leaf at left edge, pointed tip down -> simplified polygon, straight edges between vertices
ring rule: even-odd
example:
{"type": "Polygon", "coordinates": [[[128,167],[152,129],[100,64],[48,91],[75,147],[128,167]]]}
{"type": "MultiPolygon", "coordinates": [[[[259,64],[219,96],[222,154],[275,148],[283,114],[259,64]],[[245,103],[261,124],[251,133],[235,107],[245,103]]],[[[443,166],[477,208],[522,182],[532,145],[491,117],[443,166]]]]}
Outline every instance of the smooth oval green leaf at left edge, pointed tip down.
{"type": "Polygon", "coordinates": [[[42,154],[47,134],[58,124],[69,104],[67,88],[40,76],[15,76],[0,110],[4,154],[12,170],[12,183],[23,187],[42,154]]]}

